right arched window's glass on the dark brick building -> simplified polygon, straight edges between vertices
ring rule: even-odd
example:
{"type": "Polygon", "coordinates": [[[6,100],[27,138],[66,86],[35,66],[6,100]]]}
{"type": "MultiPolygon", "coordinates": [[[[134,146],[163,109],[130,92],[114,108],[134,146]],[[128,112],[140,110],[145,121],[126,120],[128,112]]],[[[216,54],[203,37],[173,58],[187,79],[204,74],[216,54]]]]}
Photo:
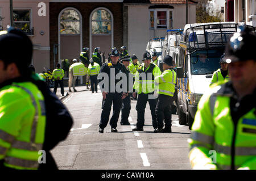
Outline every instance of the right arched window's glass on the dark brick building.
{"type": "Polygon", "coordinates": [[[111,34],[111,15],[108,11],[99,9],[92,15],[92,35],[111,34]]]}

